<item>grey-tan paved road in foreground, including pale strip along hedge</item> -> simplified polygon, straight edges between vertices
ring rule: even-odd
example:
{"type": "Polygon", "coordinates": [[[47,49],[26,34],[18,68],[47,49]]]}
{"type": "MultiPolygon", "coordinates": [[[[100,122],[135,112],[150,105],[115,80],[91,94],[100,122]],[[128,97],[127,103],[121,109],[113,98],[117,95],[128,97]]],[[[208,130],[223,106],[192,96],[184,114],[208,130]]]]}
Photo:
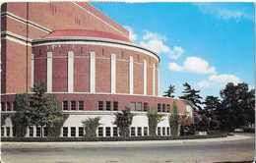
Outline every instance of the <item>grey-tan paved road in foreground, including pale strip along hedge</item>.
{"type": "Polygon", "coordinates": [[[10,163],[223,163],[254,157],[254,135],[203,140],[2,143],[10,163]]]}

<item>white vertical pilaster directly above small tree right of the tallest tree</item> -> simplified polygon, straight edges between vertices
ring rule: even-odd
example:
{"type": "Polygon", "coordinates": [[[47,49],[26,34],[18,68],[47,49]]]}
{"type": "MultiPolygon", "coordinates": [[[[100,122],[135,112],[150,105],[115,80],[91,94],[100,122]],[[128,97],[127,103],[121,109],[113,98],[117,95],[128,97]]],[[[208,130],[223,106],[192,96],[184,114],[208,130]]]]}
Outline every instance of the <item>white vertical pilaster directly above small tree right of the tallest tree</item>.
{"type": "Polygon", "coordinates": [[[96,92],[96,53],[90,53],[90,92],[96,92]]]}

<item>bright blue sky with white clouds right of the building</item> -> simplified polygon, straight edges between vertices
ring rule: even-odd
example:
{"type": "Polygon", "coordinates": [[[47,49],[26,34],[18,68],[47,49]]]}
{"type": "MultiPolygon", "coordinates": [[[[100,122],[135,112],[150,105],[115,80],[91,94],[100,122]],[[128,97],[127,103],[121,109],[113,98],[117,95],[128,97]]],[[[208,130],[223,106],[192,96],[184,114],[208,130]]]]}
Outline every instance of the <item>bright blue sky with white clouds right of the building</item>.
{"type": "Polygon", "coordinates": [[[160,54],[160,94],[184,82],[220,96],[228,81],[254,87],[253,3],[90,3],[160,54]]]}

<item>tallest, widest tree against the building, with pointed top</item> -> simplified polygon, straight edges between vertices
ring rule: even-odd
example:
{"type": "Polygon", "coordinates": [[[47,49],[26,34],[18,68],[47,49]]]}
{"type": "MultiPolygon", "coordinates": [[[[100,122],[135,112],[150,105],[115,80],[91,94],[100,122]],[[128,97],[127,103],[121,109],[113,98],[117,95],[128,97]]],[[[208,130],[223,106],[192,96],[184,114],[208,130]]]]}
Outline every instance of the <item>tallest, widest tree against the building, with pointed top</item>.
{"type": "Polygon", "coordinates": [[[40,81],[32,87],[34,94],[31,97],[29,107],[29,123],[41,127],[41,136],[43,126],[52,126],[56,117],[62,115],[62,110],[55,96],[45,95],[45,84],[40,81]]]}

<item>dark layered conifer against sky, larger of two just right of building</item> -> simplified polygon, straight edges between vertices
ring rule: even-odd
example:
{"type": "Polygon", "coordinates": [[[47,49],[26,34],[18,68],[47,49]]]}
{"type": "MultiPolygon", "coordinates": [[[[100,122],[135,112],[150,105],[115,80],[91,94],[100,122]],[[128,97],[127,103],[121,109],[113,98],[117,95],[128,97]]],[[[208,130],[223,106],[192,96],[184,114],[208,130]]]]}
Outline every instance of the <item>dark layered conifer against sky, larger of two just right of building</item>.
{"type": "Polygon", "coordinates": [[[202,102],[200,100],[200,99],[202,99],[202,97],[198,94],[200,92],[200,90],[192,89],[190,84],[188,84],[187,82],[185,82],[183,84],[183,86],[185,86],[184,91],[182,91],[182,93],[184,95],[179,96],[179,98],[191,101],[194,104],[193,105],[194,110],[196,110],[196,109],[202,110],[202,108],[199,105],[199,104],[202,104],[202,102]]]}

